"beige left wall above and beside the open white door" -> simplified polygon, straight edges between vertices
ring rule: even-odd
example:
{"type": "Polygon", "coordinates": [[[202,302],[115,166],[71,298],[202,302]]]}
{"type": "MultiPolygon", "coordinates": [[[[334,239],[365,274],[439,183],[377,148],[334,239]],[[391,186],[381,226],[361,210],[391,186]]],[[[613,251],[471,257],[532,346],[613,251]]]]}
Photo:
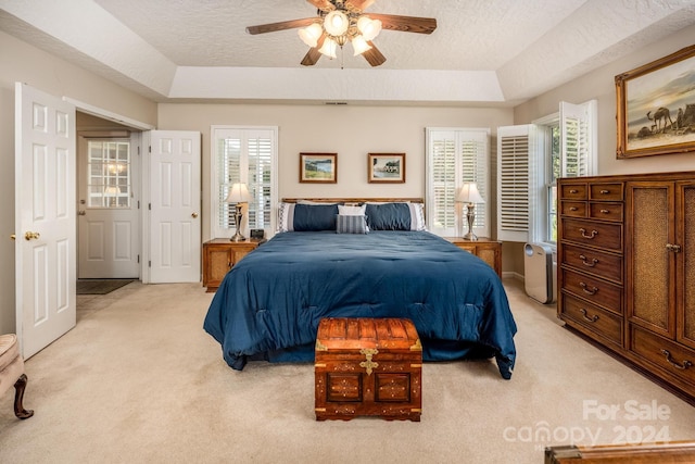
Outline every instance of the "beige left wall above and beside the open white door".
{"type": "Polygon", "coordinates": [[[15,330],[14,83],[156,124],[156,104],[0,32],[0,334],[15,330]]]}

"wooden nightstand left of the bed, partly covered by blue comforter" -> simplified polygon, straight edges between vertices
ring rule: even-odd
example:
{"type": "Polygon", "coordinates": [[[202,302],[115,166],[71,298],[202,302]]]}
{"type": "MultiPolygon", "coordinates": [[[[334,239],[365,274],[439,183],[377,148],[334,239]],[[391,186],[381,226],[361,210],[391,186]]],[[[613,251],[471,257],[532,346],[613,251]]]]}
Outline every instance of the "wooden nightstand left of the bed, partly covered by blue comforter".
{"type": "MultiPolygon", "coordinates": [[[[265,241],[265,240],[263,240],[265,241]]],[[[222,279],[243,256],[252,252],[263,241],[231,241],[228,238],[215,238],[203,243],[203,287],[208,292],[217,290],[222,279]]]]}

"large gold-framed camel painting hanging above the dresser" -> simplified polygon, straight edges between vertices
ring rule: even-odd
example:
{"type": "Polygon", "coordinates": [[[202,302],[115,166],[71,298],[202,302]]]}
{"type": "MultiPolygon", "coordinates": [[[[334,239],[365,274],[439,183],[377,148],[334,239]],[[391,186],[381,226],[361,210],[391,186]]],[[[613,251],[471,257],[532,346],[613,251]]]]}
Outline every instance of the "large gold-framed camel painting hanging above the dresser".
{"type": "Polygon", "coordinates": [[[615,80],[618,159],[695,151],[695,46],[615,80]]]}

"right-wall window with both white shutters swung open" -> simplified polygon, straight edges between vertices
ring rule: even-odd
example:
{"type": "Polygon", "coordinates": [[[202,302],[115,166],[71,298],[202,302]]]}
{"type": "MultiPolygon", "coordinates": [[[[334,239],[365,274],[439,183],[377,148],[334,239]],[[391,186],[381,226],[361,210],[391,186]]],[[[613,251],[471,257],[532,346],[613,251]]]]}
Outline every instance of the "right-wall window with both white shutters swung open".
{"type": "Polygon", "coordinates": [[[497,238],[557,241],[558,177],[596,171],[596,101],[560,102],[560,111],[523,126],[497,128],[497,238]]]}

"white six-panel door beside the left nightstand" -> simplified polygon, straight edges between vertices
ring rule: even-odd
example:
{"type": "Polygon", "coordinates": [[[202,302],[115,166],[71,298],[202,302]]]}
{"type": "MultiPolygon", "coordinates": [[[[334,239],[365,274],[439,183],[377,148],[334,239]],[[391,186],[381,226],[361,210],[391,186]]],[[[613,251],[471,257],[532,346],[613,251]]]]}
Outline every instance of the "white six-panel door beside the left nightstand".
{"type": "Polygon", "coordinates": [[[150,133],[150,283],[200,281],[201,136],[150,133]]]}

